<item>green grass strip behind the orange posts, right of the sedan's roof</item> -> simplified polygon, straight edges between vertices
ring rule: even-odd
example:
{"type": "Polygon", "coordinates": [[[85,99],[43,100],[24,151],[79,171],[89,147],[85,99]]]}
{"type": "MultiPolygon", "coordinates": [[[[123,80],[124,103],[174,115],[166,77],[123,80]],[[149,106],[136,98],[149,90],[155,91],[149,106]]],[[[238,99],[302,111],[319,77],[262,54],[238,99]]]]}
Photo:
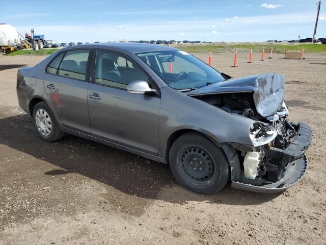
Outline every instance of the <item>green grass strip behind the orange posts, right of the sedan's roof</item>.
{"type": "Polygon", "coordinates": [[[176,45],[176,48],[183,50],[187,53],[208,53],[212,50],[212,53],[233,53],[234,48],[237,48],[238,53],[249,53],[250,48],[253,47],[253,53],[261,53],[263,47],[265,52],[270,52],[273,47],[273,53],[285,53],[286,51],[302,51],[305,49],[305,53],[324,53],[326,52],[325,44],[294,44],[294,45],[282,45],[282,44],[231,44],[231,45],[176,45]]]}

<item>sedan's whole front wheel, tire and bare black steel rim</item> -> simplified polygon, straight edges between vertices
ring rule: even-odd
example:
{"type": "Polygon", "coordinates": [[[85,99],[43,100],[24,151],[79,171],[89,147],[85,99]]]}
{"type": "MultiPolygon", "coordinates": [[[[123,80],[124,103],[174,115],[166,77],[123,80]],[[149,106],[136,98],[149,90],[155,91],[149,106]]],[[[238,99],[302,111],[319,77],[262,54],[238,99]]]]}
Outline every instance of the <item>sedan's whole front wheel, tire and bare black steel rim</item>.
{"type": "Polygon", "coordinates": [[[178,183],[197,193],[218,192],[230,179],[224,151],[199,133],[177,138],[169,152],[169,163],[178,183]]]}

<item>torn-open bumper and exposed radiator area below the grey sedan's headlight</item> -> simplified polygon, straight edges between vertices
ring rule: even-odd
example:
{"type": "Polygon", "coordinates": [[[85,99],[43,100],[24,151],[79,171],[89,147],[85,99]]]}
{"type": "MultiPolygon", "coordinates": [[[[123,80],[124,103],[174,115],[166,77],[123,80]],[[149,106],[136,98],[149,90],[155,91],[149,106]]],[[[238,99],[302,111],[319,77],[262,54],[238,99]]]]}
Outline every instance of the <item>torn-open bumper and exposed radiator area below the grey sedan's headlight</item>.
{"type": "Polygon", "coordinates": [[[270,142],[248,147],[230,142],[237,159],[232,165],[232,187],[257,192],[278,192],[299,181],[306,173],[305,151],[311,141],[307,124],[289,123],[286,118],[275,122],[277,136],[270,142]],[[236,173],[233,173],[236,172],[236,173]]]}

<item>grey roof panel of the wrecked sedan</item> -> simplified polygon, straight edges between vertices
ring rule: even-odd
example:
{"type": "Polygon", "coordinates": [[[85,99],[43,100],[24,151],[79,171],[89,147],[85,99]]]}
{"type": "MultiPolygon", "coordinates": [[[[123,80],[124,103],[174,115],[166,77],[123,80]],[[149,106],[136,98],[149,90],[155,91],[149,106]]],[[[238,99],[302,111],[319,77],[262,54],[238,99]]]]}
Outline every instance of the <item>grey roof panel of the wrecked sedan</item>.
{"type": "MultiPolygon", "coordinates": [[[[114,49],[120,50],[122,52],[129,53],[143,53],[143,52],[157,52],[157,51],[177,51],[177,48],[165,46],[165,45],[157,45],[157,44],[149,44],[149,43],[132,43],[132,42],[102,42],[102,43],[91,43],[91,44],[83,44],[78,46],[77,48],[103,48],[103,49],[114,49]]],[[[72,46],[67,48],[73,49],[76,46],[72,46]]]]}

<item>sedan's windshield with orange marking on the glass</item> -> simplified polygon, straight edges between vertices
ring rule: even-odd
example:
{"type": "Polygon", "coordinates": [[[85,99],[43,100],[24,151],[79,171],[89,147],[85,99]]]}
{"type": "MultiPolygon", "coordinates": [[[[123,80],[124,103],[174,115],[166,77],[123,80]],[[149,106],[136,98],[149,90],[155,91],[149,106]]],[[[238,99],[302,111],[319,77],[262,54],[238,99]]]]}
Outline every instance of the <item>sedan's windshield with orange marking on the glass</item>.
{"type": "Polygon", "coordinates": [[[196,89],[225,80],[218,71],[184,51],[159,51],[137,56],[174,89],[196,89]]]}

